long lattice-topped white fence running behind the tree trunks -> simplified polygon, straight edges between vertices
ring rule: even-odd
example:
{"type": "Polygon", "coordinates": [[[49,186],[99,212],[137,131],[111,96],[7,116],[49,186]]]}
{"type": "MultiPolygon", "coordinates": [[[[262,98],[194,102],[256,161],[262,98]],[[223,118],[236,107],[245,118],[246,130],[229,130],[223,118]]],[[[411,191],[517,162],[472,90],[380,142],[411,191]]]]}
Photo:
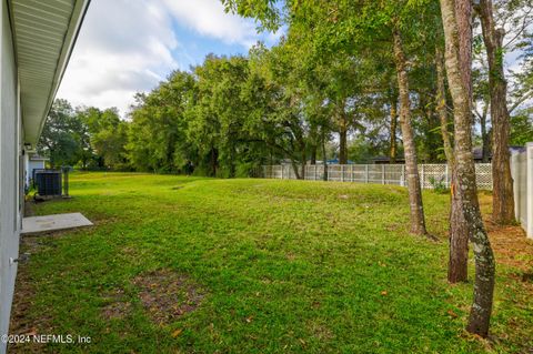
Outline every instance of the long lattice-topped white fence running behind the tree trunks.
{"type": "MultiPolygon", "coordinates": [[[[299,166],[299,173],[301,166],[299,166]]],[[[322,164],[305,165],[305,180],[322,181],[324,166],[322,164]]],[[[433,189],[436,183],[450,186],[451,174],[447,165],[419,164],[420,183],[423,189],[433,189]]],[[[265,165],[262,168],[265,179],[295,180],[294,170],[290,164],[265,165]]],[[[492,190],[492,166],[490,163],[475,164],[475,179],[480,190],[492,190]]],[[[329,164],[328,181],[360,182],[379,184],[406,185],[404,164],[329,164]]]]}

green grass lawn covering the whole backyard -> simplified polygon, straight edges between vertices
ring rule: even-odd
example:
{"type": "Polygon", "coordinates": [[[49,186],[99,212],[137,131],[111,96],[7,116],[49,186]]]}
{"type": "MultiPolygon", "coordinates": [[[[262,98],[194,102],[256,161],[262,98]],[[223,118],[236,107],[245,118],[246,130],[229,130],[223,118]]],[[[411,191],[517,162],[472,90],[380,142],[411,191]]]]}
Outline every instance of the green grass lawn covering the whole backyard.
{"type": "Polygon", "coordinates": [[[432,243],[408,233],[406,191],[395,186],[76,173],[71,194],[34,212],[80,211],[95,226],[26,239],[22,252],[32,255],[19,267],[12,330],[92,343],[17,350],[533,347],[530,284],[506,266],[499,266],[493,341],[463,331],[472,284],[445,281],[447,195],[424,194],[429,229],[443,240],[432,243]]]}

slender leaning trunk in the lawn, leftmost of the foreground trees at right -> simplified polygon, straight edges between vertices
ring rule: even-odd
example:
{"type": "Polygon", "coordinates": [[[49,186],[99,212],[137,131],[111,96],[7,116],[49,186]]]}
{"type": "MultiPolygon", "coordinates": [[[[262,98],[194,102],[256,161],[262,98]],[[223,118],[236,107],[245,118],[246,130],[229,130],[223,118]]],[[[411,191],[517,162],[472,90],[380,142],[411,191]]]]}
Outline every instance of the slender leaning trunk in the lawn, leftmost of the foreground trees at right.
{"type": "Polygon", "coordinates": [[[400,127],[402,129],[403,148],[405,150],[405,170],[408,174],[409,203],[411,209],[411,233],[428,235],[424,208],[422,204],[422,190],[420,188],[416,146],[414,144],[413,128],[411,125],[411,100],[409,98],[406,59],[400,33],[395,30],[393,34],[394,59],[400,92],[400,127]]]}

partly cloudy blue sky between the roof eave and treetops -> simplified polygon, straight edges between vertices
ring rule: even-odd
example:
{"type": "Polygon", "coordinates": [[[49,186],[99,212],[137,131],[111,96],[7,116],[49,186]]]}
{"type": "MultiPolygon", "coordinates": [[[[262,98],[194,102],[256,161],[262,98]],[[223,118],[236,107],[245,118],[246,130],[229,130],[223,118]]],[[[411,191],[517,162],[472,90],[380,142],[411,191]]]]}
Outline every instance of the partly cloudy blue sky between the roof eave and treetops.
{"type": "Polygon", "coordinates": [[[175,69],[189,70],[208,53],[245,54],[280,33],[223,11],[220,0],[92,0],[58,98],[74,107],[117,107],[153,89],[175,69]]]}

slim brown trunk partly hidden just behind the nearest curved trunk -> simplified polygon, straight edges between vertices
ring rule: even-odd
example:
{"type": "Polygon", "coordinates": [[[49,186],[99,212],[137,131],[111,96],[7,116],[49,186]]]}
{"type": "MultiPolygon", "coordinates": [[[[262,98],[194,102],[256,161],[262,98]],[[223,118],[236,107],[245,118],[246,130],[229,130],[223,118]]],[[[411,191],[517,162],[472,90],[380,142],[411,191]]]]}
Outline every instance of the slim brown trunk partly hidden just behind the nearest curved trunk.
{"type": "MultiPolygon", "coordinates": [[[[449,119],[446,111],[446,91],[444,85],[444,57],[438,47],[436,63],[436,110],[441,122],[441,134],[444,144],[444,154],[447,161],[447,171],[451,174],[452,191],[456,189],[455,159],[453,144],[447,130],[449,119]]],[[[450,257],[447,263],[447,281],[452,284],[466,282],[469,277],[469,225],[463,214],[463,206],[457,193],[450,196],[450,257]]]]}

